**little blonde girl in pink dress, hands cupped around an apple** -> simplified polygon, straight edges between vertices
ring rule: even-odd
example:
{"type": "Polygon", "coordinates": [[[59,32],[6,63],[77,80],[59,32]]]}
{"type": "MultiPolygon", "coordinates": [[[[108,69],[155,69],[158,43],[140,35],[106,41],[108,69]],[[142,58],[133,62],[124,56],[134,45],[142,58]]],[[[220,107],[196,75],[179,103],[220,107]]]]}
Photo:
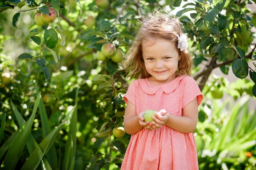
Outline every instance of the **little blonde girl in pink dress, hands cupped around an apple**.
{"type": "Polygon", "coordinates": [[[124,69],[124,128],[131,134],[121,170],[197,170],[193,131],[202,94],[190,77],[192,58],[178,18],[155,12],[142,20],[124,69]],[[144,121],[145,110],[157,110],[144,121]]]}

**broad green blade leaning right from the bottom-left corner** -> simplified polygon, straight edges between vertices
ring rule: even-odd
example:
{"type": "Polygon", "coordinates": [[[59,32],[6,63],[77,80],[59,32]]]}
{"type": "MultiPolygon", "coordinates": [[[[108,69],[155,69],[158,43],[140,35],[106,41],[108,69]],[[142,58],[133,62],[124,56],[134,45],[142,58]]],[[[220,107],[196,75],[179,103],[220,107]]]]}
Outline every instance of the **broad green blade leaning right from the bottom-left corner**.
{"type": "Polygon", "coordinates": [[[24,126],[22,126],[20,132],[13,140],[9,150],[7,151],[4,161],[2,164],[2,170],[13,170],[16,167],[18,159],[22,153],[23,148],[25,147],[27,138],[29,137],[31,127],[34,121],[34,117],[36,115],[36,110],[38,108],[40,95],[36,98],[36,102],[32,111],[31,116],[24,126]]]}

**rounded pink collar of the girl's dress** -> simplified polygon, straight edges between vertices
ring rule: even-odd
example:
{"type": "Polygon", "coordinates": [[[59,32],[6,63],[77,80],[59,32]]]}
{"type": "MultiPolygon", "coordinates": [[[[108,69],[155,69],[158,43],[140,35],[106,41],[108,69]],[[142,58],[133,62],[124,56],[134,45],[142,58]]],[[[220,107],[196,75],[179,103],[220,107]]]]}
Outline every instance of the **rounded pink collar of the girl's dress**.
{"type": "Polygon", "coordinates": [[[162,89],[162,91],[164,91],[164,93],[170,94],[171,92],[173,92],[177,88],[177,86],[180,84],[180,81],[185,76],[188,76],[188,75],[181,75],[179,77],[176,77],[173,81],[171,81],[167,84],[161,84],[161,85],[151,84],[148,81],[148,78],[139,79],[139,85],[141,86],[141,89],[149,95],[155,94],[160,88],[162,89]]]}

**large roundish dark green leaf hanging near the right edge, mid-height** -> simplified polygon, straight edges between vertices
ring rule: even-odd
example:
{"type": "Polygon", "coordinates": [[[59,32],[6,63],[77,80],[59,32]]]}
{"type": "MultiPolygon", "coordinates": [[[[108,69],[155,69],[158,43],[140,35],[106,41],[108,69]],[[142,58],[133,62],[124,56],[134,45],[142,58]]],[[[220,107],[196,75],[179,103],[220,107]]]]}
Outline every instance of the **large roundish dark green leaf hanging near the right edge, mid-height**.
{"type": "Polygon", "coordinates": [[[232,71],[236,77],[244,79],[248,75],[248,64],[245,60],[237,58],[232,63],[232,71]]]}

